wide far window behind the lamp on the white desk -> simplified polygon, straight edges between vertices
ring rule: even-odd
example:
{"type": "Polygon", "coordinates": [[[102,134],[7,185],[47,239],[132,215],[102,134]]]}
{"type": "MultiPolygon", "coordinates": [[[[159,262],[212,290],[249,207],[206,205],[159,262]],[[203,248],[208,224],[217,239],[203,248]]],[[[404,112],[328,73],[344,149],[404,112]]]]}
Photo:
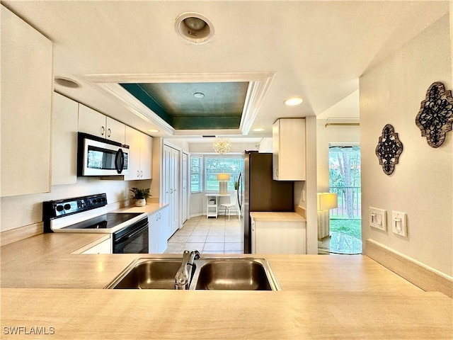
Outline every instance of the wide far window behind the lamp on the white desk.
{"type": "Polygon", "coordinates": [[[243,158],[220,158],[205,156],[205,191],[219,191],[217,174],[230,174],[228,191],[234,191],[234,182],[243,170],[243,158]]]}

